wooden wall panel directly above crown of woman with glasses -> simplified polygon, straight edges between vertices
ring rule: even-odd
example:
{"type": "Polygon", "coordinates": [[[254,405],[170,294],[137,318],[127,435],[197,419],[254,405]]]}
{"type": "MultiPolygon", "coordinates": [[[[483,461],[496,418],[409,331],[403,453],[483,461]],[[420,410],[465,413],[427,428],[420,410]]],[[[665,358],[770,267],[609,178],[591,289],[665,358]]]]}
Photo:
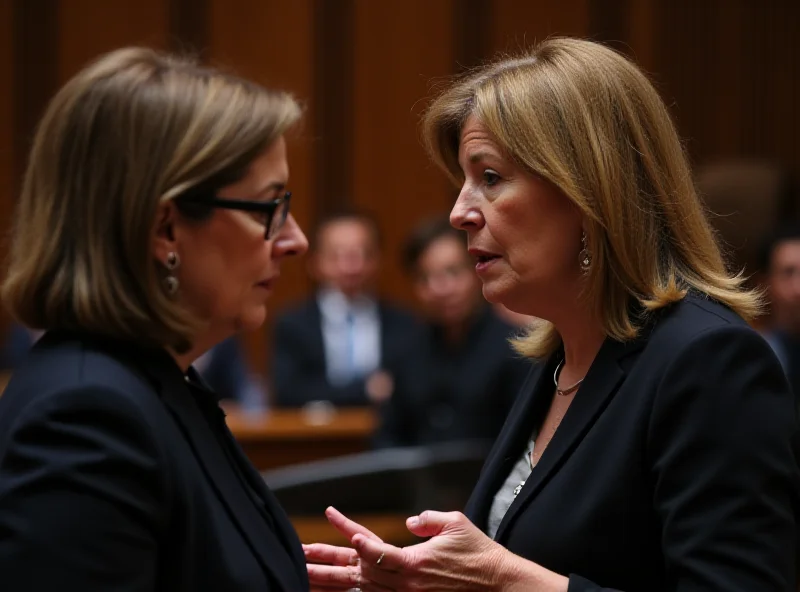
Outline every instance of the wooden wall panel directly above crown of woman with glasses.
{"type": "Polygon", "coordinates": [[[59,82],[113,49],[128,45],[166,49],[168,17],[166,0],[61,0],[59,82]]]}

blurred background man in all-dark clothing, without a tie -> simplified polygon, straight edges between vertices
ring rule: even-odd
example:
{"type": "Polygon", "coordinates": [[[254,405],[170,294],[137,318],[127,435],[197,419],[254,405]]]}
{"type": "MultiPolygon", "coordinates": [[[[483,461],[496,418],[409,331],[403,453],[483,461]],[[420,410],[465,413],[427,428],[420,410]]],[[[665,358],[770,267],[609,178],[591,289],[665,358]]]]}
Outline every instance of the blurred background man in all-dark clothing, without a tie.
{"type": "Polygon", "coordinates": [[[376,445],[492,440],[531,368],[508,343],[515,327],[484,301],[466,234],[446,219],[418,227],[404,255],[427,324],[382,408],[376,445]]]}

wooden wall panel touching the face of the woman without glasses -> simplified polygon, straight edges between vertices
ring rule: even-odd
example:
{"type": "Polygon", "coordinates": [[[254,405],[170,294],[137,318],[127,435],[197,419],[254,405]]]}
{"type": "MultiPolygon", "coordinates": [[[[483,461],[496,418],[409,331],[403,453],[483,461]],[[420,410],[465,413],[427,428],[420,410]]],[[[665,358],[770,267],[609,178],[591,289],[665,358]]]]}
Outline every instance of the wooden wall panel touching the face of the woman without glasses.
{"type": "Polygon", "coordinates": [[[408,304],[400,245],[419,220],[448,213],[456,195],[419,138],[432,80],[456,70],[454,1],[356,2],[352,199],[384,232],[381,292],[408,304]]]}

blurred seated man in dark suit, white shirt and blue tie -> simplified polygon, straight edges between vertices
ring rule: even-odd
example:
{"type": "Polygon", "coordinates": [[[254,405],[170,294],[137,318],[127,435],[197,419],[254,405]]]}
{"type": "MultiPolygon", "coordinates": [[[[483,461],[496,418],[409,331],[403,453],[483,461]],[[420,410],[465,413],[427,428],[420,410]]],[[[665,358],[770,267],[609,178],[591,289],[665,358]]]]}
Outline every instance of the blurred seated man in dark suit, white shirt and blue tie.
{"type": "Polygon", "coordinates": [[[371,405],[392,396],[393,369],[416,333],[409,313],[375,296],[379,234],[371,217],[351,211],[326,217],[312,235],[309,270],[318,290],[275,325],[279,406],[371,405]]]}

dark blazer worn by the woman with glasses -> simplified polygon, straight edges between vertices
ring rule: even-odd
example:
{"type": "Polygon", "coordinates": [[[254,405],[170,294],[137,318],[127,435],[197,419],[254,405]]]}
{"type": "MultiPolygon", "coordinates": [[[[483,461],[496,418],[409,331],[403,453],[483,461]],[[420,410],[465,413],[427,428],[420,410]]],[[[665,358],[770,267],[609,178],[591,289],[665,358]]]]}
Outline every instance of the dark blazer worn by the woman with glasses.
{"type": "Polygon", "coordinates": [[[163,351],[53,333],[0,397],[0,578],[4,590],[308,589],[297,536],[214,395],[163,351]]]}

